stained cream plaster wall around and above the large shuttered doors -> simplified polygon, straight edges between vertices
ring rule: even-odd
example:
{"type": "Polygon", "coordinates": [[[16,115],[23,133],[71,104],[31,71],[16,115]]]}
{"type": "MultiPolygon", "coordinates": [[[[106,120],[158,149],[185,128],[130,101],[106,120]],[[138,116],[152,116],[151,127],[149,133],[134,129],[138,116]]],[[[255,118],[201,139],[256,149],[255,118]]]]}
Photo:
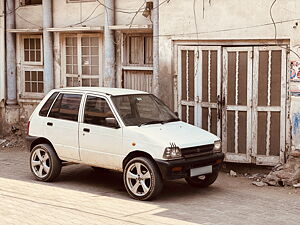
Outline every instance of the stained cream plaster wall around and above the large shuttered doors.
{"type": "MultiPolygon", "coordinates": [[[[161,0],[162,2],[162,0],[161,0]]],[[[274,39],[274,26],[269,14],[273,0],[196,0],[196,24],[193,0],[172,0],[160,7],[160,74],[161,96],[171,106],[174,104],[172,93],[173,75],[176,75],[175,44],[180,40],[265,40],[274,39]],[[196,35],[198,31],[198,35],[196,35]]],[[[297,0],[277,1],[273,7],[273,17],[277,22],[289,21],[299,17],[300,4],[297,0]]],[[[276,25],[277,38],[290,42],[293,51],[300,53],[300,23],[294,20],[276,25]],[[295,27],[294,27],[295,26],[295,27]]],[[[191,42],[191,41],[190,41],[191,42]]],[[[196,42],[194,42],[195,44],[196,42]]],[[[203,43],[203,42],[202,42],[203,43]]],[[[192,42],[190,43],[192,44],[192,42]]],[[[201,44],[201,41],[198,42],[201,44]]],[[[290,60],[300,61],[291,52],[290,60]]],[[[291,83],[291,89],[300,89],[299,83],[291,83]]]]}

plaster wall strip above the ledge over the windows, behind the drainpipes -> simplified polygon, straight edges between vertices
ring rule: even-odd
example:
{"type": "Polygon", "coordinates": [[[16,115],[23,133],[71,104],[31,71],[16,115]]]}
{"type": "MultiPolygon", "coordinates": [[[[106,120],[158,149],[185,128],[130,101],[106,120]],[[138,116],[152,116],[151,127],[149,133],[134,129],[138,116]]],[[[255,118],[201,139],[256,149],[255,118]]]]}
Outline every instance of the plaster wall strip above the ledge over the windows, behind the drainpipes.
{"type": "MultiPolygon", "coordinates": [[[[116,24],[129,24],[132,17],[134,16],[134,12],[140,6],[142,6],[144,2],[144,0],[116,0],[116,24]],[[121,11],[129,11],[132,13],[123,13],[121,11]]],[[[19,0],[16,0],[16,7],[18,6],[19,0]]],[[[104,7],[102,5],[99,5],[97,1],[84,3],[67,3],[67,0],[53,0],[53,26],[81,26],[81,24],[78,23],[82,21],[85,21],[82,23],[82,25],[88,27],[103,26],[104,10],[104,7]]],[[[16,12],[17,28],[42,27],[43,12],[41,5],[22,6],[18,8],[16,12]]],[[[141,14],[138,14],[135,17],[133,24],[151,24],[151,21],[143,17],[141,14]]]]}

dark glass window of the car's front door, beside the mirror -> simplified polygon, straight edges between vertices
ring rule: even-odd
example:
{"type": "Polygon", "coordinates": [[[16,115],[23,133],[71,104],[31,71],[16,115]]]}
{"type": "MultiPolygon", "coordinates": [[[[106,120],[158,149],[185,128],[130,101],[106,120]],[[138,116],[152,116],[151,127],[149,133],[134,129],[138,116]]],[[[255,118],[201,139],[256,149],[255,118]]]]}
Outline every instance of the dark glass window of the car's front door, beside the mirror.
{"type": "Polygon", "coordinates": [[[106,100],[88,96],[84,109],[84,123],[111,127],[106,123],[106,118],[115,118],[106,100]]]}

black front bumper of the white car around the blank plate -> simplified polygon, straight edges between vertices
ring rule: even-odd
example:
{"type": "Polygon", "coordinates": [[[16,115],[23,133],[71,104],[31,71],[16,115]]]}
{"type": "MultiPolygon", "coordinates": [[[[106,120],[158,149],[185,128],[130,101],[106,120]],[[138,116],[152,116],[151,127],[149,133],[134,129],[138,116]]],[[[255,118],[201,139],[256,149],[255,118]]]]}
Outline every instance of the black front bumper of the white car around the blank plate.
{"type": "Polygon", "coordinates": [[[200,156],[189,159],[177,160],[155,160],[164,180],[175,180],[190,176],[192,168],[213,166],[213,172],[221,169],[224,160],[224,153],[214,153],[207,156],[200,156]]]}

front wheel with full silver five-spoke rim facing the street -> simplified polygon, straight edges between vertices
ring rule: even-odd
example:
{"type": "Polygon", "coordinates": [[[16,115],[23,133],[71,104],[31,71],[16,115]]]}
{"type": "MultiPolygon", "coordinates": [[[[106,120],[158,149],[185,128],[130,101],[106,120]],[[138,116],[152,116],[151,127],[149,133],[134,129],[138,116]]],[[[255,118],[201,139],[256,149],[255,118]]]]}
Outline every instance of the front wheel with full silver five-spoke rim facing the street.
{"type": "Polygon", "coordinates": [[[129,195],[137,200],[150,200],[163,188],[157,165],[146,157],[131,159],[123,172],[124,185],[129,195]]]}

